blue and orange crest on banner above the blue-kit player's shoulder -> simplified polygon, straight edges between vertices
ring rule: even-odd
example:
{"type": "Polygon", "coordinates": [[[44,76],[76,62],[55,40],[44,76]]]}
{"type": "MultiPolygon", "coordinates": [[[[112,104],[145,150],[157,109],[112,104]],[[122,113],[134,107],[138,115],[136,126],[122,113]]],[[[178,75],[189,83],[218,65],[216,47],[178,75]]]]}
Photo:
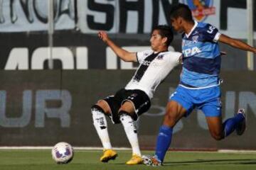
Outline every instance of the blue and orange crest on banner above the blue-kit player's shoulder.
{"type": "Polygon", "coordinates": [[[208,16],[215,14],[213,0],[183,0],[183,4],[189,6],[193,17],[199,22],[203,22],[208,16]]]}

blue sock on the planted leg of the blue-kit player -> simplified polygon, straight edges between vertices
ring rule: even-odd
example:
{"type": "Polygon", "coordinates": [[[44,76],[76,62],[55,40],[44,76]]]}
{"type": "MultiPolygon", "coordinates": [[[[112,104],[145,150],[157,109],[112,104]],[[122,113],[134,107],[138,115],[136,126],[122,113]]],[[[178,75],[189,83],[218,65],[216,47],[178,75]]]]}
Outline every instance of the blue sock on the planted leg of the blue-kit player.
{"type": "Polygon", "coordinates": [[[159,135],[156,141],[156,156],[161,162],[164,161],[164,156],[171,145],[171,136],[173,128],[162,125],[159,130],[159,135]]]}

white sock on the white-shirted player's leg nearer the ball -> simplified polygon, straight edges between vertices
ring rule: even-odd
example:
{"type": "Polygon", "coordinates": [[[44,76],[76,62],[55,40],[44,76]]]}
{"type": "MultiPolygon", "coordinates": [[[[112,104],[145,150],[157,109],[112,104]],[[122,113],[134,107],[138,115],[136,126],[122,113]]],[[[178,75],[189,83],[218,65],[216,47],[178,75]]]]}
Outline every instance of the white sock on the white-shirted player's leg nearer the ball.
{"type": "Polygon", "coordinates": [[[92,108],[92,120],[93,125],[95,126],[95,129],[97,131],[97,135],[99,135],[100,140],[102,142],[104,149],[112,149],[111,143],[110,143],[110,137],[107,132],[107,120],[105,117],[105,114],[101,111],[98,111],[95,108],[92,108]]]}

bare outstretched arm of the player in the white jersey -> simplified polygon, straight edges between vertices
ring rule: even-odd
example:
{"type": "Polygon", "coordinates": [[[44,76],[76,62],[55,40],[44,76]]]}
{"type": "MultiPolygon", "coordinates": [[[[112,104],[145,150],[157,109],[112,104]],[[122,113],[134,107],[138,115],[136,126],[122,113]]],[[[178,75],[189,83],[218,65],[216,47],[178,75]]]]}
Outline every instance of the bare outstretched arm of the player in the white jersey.
{"type": "Polygon", "coordinates": [[[137,56],[135,52],[128,52],[127,50],[124,50],[114,44],[114,42],[110,40],[105,31],[99,31],[98,36],[103,42],[110,46],[114,53],[122,60],[124,60],[124,62],[137,62],[137,56]]]}

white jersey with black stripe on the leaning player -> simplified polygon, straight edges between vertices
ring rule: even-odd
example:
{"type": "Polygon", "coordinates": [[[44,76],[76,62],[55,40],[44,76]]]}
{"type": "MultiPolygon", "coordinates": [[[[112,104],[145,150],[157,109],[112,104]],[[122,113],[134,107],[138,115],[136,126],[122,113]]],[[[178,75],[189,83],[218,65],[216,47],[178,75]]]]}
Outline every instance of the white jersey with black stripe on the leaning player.
{"type": "Polygon", "coordinates": [[[153,98],[156,87],[178,65],[179,57],[181,57],[180,52],[156,53],[153,50],[137,52],[139,67],[124,89],[139,89],[144,91],[149,98],[153,98]]]}

